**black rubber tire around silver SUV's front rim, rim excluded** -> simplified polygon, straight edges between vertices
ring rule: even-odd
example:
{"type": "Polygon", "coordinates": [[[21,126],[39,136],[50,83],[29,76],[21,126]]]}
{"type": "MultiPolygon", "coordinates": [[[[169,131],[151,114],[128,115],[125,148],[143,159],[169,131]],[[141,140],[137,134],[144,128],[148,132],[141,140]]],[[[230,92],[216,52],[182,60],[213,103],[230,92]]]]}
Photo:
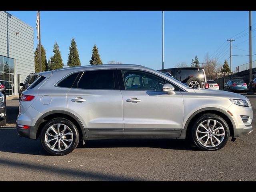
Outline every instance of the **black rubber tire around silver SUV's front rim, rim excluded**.
{"type": "Polygon", "coordinates": [[[203,116],[201,116],[200,118],[198,118],[196,120],[196,123],[192,127],[192,140],[194,141],[196,146],[198,146],[202,150],[206,150],[206,151],[214,151],[214,150],[219,150],[219,149],[223,148],[226,145],[226,143],[228,142],[229,136],[230,136],[230,130],[228,128],[228,124],[226,123],[226,121],[222,117],[220,117],[218,115],[215,115],[215,114],[204,114],[203,116]],[[200,144],[200,142],[196,138],[196,129],[197,129],[197,127],[199,126],[199,124],[201,122],[203,122],[205,120],[208,120],[208,119],[212,119],[212,120],[216,120],[216,121],[220,122],[222,124],[222,126],[224,127],[224,131],[225,131],[225,136],[224,136],[224,139],[221,142],[221,144],[219,144],[216,147],[211,147],[211,148],[202,146],[202,144],[200,144]]]}

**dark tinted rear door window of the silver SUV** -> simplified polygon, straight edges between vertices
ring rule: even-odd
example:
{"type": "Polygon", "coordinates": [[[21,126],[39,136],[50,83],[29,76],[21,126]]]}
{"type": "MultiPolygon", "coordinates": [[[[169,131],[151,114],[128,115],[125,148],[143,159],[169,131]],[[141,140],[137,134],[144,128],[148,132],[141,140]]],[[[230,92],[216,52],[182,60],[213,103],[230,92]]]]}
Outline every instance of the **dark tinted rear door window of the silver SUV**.
{"type": "Polygon", "coordinates": [[[113,70],[81,72],[72,88],[115,89],[113,70]]]}

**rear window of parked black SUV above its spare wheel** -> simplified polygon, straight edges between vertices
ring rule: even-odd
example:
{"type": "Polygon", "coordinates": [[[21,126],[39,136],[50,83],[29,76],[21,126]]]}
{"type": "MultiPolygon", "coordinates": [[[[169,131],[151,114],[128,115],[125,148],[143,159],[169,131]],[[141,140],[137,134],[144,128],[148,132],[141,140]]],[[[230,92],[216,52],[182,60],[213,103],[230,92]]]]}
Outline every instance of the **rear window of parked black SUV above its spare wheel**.
{"type": "Polygon", "coordinates": [[[196,77],[201,81],[204,81],[204,72],[202,69],[180,69],[176,71],[176,78],[179,81],[184,81],[187,78],[196,77]]]}

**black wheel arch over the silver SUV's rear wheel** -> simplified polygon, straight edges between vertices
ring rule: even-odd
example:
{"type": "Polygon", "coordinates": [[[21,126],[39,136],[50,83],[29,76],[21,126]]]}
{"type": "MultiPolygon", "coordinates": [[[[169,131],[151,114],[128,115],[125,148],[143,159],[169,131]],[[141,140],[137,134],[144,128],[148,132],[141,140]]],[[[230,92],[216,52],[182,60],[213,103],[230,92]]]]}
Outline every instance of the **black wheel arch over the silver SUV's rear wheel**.
{"type": "Polygon", "coordinates": [[[36,121],[36,139],[40,136],[41,130],[46,124],[46,122],[54,118],[65,118],[67,120],[70,120],[78,129],[79,137],[85,140],[86,134],[82,122],[74,114],[62,110],[53,110],[47,112],[36,121]]]}

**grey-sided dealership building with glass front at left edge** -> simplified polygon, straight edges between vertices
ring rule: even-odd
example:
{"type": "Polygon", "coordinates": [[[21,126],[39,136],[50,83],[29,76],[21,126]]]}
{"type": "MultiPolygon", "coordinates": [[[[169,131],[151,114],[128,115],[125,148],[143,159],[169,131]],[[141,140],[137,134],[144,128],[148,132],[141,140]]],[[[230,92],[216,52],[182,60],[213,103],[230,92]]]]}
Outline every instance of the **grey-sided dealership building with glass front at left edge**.
{"type": "Polygon", "coordinates": [[[35,72],[34,29],[6,11],[0,11],[0,82],[6,95],[17,95],[19,84],[35,72]]]}

